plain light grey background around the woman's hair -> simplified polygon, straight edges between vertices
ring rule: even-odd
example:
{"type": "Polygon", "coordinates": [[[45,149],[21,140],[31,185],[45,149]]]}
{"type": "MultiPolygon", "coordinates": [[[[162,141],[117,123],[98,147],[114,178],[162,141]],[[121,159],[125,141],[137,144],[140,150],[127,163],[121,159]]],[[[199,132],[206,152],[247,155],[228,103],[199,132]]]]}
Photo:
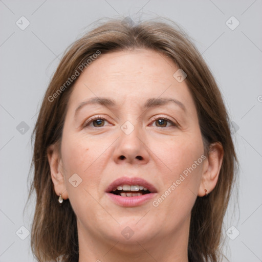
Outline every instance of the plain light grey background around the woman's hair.
{"type": "MultiPolygon", "coordinates": [[[[26,229],[20,228],[30,230],[34,210],[30,202],[23,214],[32,157],[30,136],[59,58],[98,18],[130,15],[136,19],[141,13],[143,19],[160,15],[182,25],[220,86],[241,163],[238,200],[235,193],[223,231],[234,226],[227,232],[235,239],[226,236],[225,252],[230,261],[262,261],[261,10],[261,0],[0,0],[0,262],[34,261],[30,235],[26,237],[26,229]],[[16,25],[21,16],[30,21],[25,30],[16,25]],[[226,24],[231,16],[240,23],[234,30],[226,24]]],[[[236,25],[231,20],[231,26],[236,25]]]]}

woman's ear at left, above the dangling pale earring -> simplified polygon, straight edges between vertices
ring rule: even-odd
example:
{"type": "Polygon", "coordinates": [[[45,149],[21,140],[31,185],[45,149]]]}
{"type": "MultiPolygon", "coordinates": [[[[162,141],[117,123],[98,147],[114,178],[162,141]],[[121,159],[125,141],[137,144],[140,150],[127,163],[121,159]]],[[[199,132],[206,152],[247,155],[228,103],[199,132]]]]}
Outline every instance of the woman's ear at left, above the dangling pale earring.
{"type": "Polygon", "coordinates": [[[52,144],[47,149],[48,162],[50,166],[51,179],[54,184],[55,192],[59,196],[61,192],[62,199],[68,199],[68,192],[65,187],[62,160],[60,159],[60,153],[58,144],[52,144]]]}

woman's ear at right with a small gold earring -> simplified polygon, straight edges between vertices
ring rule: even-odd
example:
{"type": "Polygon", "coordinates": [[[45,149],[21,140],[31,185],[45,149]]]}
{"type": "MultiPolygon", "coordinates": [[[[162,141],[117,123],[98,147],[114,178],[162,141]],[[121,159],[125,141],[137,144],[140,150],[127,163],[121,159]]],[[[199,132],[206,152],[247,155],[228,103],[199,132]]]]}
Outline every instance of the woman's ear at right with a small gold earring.
{"type": "Polygon", "coordinates": [[[223,162],[224,149],[221,143],[216,142],[209,146],[209,156],[204,160],[201,184],[198,196],[203,197],[207,190],[210,193],[219,179],[219,173],[223,162]]]}

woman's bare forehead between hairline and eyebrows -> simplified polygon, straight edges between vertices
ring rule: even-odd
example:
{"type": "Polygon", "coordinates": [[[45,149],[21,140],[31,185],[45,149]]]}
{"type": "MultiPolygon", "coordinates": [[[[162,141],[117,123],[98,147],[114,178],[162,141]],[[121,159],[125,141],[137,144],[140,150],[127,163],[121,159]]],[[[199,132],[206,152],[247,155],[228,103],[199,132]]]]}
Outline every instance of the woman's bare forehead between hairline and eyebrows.
{"type": "Polygon", "coordinates": [[[69,106],[93,97],[111,97],[119,104],[144,104],[149,98],[174,98],[190,107],[193,103],[185,81],[173,74],[176,64],[152,50],[101,54],[74,84],[69,106]]]}

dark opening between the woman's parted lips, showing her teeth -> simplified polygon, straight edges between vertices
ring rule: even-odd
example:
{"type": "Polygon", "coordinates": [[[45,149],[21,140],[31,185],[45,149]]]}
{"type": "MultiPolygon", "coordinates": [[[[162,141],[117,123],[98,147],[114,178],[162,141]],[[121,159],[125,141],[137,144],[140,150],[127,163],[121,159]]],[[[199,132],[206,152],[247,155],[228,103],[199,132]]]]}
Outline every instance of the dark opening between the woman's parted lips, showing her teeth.
{"type": "Polygon", "coordinates": [[[150,191],[140,185],[122,185],[113,189],[110,193],[121,195],[121,197],[137,197],[139,195],[149,194],[150,191]]]}

